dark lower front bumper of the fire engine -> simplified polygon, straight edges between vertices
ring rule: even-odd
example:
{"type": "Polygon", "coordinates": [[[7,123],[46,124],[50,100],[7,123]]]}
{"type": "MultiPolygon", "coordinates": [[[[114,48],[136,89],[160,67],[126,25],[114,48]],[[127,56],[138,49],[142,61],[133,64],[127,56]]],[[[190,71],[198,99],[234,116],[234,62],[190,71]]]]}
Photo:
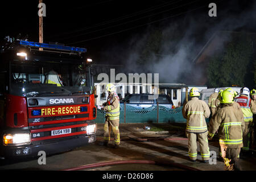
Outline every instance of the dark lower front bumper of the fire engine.
{"type": "MultiPolygon", "coordinates": [[[[33,144],[31,143],[29,146],[20,146],[20,147],[13,147],[13,146],[2,146],[0,148],[3,151],[3,157],[5,159],[13,159],[13,158],[34,158],[38,157],[39,151],[46,152],[47,155],[57,154],[69,150],[73,150],[76,147],[85,146],[89,143],[89,137],[92,139],[90,142],[96,141],[96,134],[94,135],[80,135],[78,138],[67,139],[67,140],[59,140],[55,142],[47,142],[44,144],[33,144]],[[24,148],[28,149],[28,154],[16,154],[16,150],[23,150],[24,148]]],[[[43,142],[46,142],[44,140],[43,142]]]]}

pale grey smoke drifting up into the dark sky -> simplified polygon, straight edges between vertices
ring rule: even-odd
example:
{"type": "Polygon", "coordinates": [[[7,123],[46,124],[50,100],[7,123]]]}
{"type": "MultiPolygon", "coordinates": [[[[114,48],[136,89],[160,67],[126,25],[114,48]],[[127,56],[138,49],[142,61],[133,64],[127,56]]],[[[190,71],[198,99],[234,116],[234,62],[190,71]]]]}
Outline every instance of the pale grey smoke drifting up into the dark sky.
{"type": "MultiPolygon", "coordinates": [[[[237,6],[234,8],[239,9],[237,6]]],[[[254,23],[254,10],[255,4],[251,6],[250,11],[235,15],[227,16],[229,10],[220,10],[217,13],[218,22],[209,17],[208,12],[193,18],[192,14],[188,14],[184,19],[172,19],[169,25],[160,30],[162,39],[158,53],[151,52],[144,64],[138,64],[138,60],[141,59],[143,47],[150,38],[150,31],[145,31],[143,35],[133,35],[123,51],[120,51],[119,45],[112,47],[112,50],[116,51],[111,52],[115,52],[115,59],[125,65],[123,73],[159,73],[159,81],[162,83],[195,83],[206,75],[201,68],[195,67],[193,60],[208,40],[213,38],[214,34],[221,34],[221,31],[241,31],[240,28],[254,23]]],[[[229,34],[225,34],[218,39],[218,49],[221,49],[229,38],[229,34]]],[[[214,53],[214,50],[210,53],[214,53]]]]}

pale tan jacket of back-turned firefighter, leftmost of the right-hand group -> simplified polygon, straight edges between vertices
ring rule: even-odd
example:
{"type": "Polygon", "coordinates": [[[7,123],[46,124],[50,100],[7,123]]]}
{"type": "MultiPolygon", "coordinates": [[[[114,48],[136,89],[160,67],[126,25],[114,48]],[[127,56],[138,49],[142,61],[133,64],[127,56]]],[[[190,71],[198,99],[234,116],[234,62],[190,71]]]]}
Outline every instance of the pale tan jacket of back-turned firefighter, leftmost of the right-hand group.
{"type": "Polygon", "coordinates": [[[187,119],[186,131],[191,133],[204,133],[207,131],[207,123],[205,118],[210,115],[208,105],[199,100],[197,97],[192,97],[182,109],[182,114],[187,119]]]}

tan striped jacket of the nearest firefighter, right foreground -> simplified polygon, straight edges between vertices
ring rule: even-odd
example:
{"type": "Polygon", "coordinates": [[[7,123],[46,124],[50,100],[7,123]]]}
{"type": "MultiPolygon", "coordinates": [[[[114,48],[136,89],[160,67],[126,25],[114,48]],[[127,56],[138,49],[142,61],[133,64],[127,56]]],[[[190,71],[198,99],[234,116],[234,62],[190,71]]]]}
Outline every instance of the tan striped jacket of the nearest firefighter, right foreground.
{"type": "Polygon", "coordinates": [[[210,120],[208,135],[213,137],[218,131],[220,144],[228,148],[243,147],[242,133],[245,130],[243,113],[233,104],[222,104],[216,115],[210,120]]]}

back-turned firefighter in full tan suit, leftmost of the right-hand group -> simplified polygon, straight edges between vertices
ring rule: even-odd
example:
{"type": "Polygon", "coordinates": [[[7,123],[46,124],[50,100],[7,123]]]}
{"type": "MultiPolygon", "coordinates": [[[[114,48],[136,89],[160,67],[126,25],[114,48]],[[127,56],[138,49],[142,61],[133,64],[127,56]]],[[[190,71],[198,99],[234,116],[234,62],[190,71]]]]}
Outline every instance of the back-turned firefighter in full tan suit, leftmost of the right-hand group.
{"type": "Polygon", "coordinates": [[[210,115],[210,109],[208,105],[199,100],[199,89],[192,88],[189,92],[191,100],[184,105],[182,114],[187,119],[186,135],[188,138],[188,156],[192,162],[196,162],[197,159],[197,143],[196,138],[199,140],[201,158],[203,163],[209,161],[209,146],[207,139],[207,123],[205,118],[210,115]]]}

